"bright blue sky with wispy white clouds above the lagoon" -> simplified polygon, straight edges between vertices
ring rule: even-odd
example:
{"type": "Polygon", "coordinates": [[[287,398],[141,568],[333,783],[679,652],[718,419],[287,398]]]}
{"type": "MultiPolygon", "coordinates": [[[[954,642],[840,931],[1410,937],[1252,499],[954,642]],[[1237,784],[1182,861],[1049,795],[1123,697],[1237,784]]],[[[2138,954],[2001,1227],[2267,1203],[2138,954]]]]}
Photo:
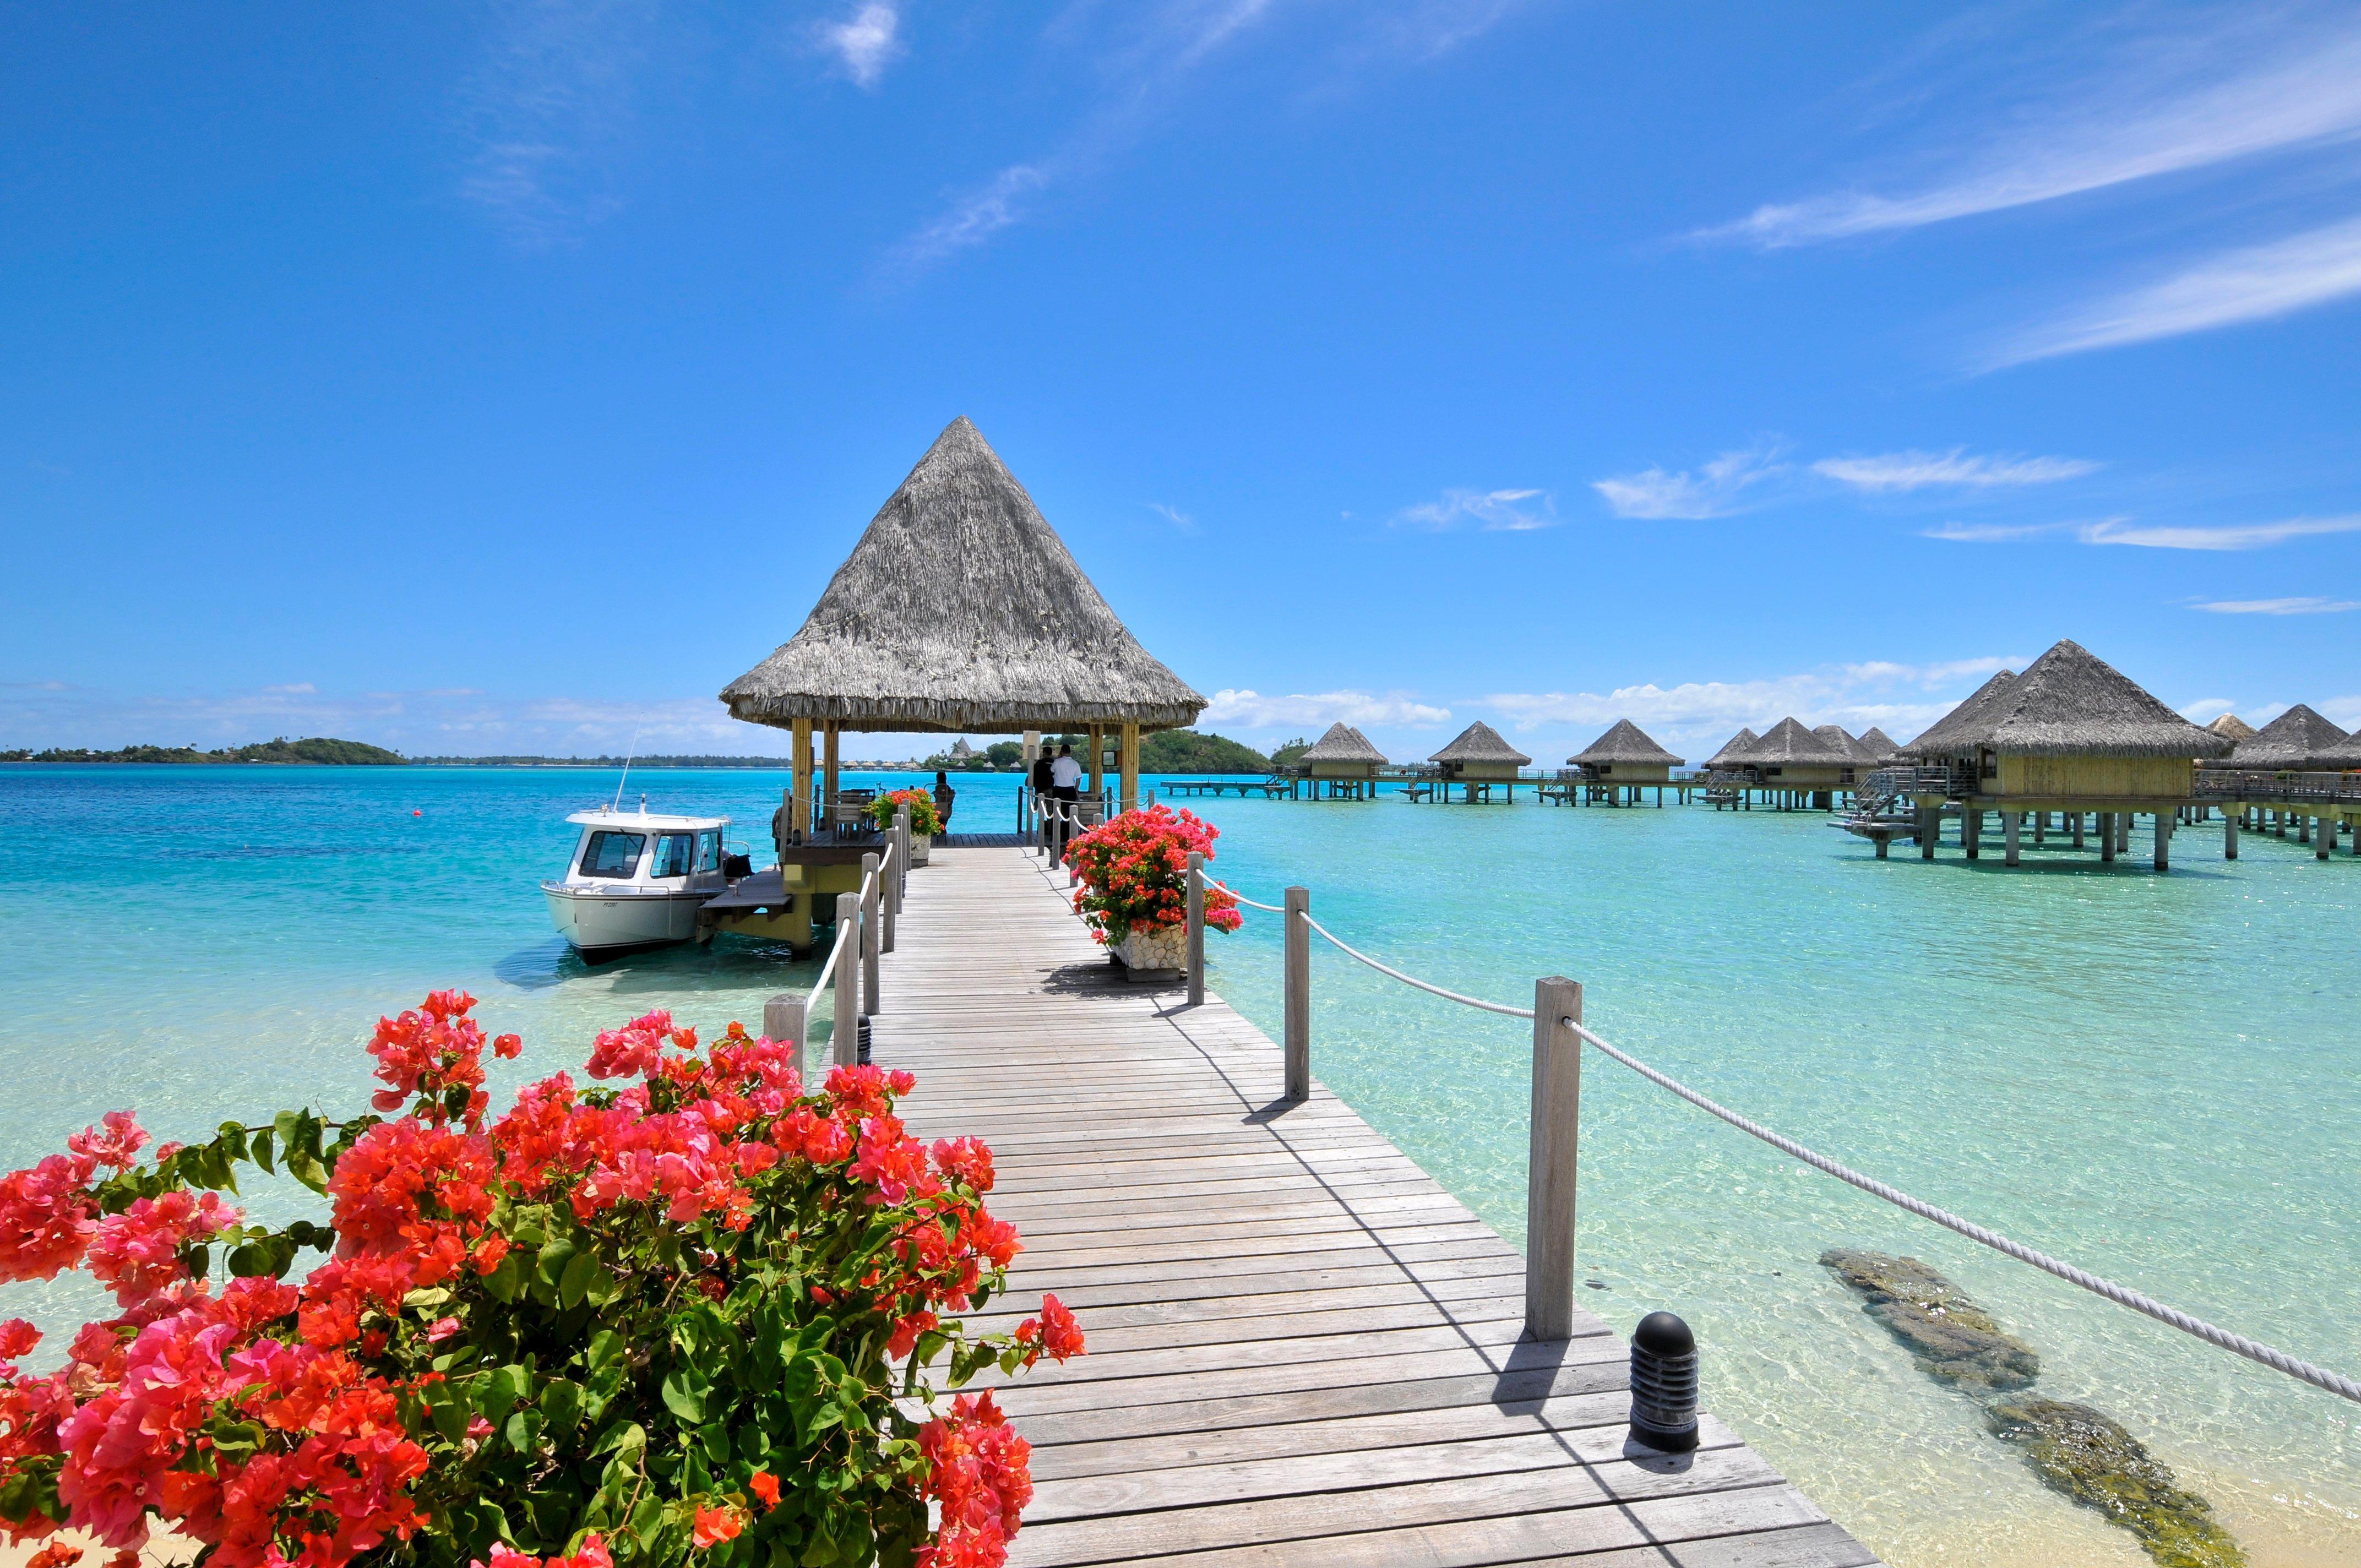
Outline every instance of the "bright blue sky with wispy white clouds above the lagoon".
{"type": "MultiPolygon", "coordinates": [[[[2361,12],[0,14],[0,746],[779,753],[970,416],[1256,744],[2361,725],[2361,12]]],[[[909,756],[940,739],[848,741],[909,756]]]]}

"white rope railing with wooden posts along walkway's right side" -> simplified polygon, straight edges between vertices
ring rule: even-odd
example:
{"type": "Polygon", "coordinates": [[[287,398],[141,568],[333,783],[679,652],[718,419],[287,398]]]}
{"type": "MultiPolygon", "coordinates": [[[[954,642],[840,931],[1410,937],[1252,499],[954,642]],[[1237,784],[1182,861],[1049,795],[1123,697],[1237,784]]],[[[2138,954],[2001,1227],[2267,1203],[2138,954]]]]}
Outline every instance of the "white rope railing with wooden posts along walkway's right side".
{"type": "Polygon", "coordinates": [[[1674,1079],[1657,1067],[1639,1060],[1636,1056],[1622,1051],[1613,1041],[1603,1039],[1582,1023],[1582,985],[1563,975],[1544,975],[1532,982],[1532,1006],[1520,1008],[1506,1001],[1487,1001],[1483,997],[1469,997],[1440,987],[1431,980],[1402,973],[1391,963],[1381,963],[1358,947],[1346,945],[1327,926],[1320,926],[1310,916],[1310,890],[1287,888],[1280,904],[1263,904],[1237,888],[1214,881],[1206,876],[1204,855],[1192,852],[1188,860],[1188,1001],[1190,1006],[1204,1004],[1204,893],[1206,888],[1221,888],[1240,904],[1249,909],[1263,909],[1277,914],[1284,926],[1284,1053],[1287,1053],[1287,1096],[1308,1098],[1310,1096],[1310,937],[1317,933],[1332,947],[1374,968],[1391,980],[1417,987],[1431,997],[1454,1001],[1466,1008],[1480,1008],[1485,1013],[1502,1013],[1509,1018],[1532,1020],[1532,1124],[1530,1143],[1525,1155],[1525,1334],[1528,1339],[1563,1339],[1572,1320],[1572,1296],[1575,1296],[1575,1171],[1580,1157],[1580,1108],[1582,1108],[1582,1046],[1596,1048],[1601,1056],[1629,1067],[1639,1077],[1648,1079],[1657,1089],[1665,1089],[1681,1100],[1688,1100],[1698,1110],[1728,1122],[1738,1131],[1761,1138],[1771,1148],[1780,1150],[1790,1159],[1799,1159],[1811,1169],[1834,1176],[1837,1181],[1860,1188],[1863,1193],[1879,1197],[1896,1209],[1915,1214],[1924,1221],[1943,1226],[1971,1242],[1981,1242],[2002,1256],[2012,1256],[2019,1263],[2030,1263],[2047,1275],[2078,1285],[2097,1296],[2104,1296],[2118,1306],[2127,1306],[2134,1313],[2153,1318],[2167,1327],[2184,1334],[2203,1339],[2210,1346],[2243,1355],[2257,1365],[2283,1372],[2297,1381],[2311,1384],[2340,1398],[2361,1403],[2361,1381],[2333,1372],[2328,1367],[2314,1365],[2297,1355],[2288,1355],[2274,1346],[2267,1346],[2245,1334],[2236,1334],[2215,1322],[2208,1322],[2193,1313],[2184,1313],[2177,1306],[2165,1306],[2153,1296],[2137,1292],[2127,1285],[2118,1285],[2104,1275],[2089,1273],[2061,1259],[2049,1256],[2035,1247],[2026,1247],[1990,1226],[1979,1226],[1976,1221],[1962,1219],[1950,1209],[1941,1209],[1922,1197],[1912,1197],[1901,1188],[1877,1181],[1875,1176],[1863,1176],[1860,1171],[1820,1155],[1794,1138],[1787,1138],[1761,1122],[1742,1117],[1740,1112],[1698,1093],[1688,1084],[1674,1079]]]}

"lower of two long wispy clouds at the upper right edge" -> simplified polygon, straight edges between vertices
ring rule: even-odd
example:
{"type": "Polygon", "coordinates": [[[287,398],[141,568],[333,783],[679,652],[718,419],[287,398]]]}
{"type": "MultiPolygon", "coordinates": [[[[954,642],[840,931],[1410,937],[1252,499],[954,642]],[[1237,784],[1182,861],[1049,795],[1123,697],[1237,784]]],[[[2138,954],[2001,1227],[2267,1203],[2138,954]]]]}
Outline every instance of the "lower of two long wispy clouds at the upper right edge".
{"type": "Polygon", "coordinates": [[[2361,293],[2361,217],[2196,267],[2012,338],[1986,368],[2288,316],[2361,293]]]}

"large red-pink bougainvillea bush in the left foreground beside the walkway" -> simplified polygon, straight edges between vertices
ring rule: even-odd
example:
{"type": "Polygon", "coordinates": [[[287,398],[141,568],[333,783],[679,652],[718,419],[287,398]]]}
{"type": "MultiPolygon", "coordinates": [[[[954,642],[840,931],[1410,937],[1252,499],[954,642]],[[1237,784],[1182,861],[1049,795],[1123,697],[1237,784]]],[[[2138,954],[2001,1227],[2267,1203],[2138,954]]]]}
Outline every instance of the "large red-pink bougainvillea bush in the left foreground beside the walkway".
{"type": "MultiPolygon", "coordinates": [[[[0,1178],[0,1280],[87,1268],[120,1315],[57,1372],[0,1325],[0,1525],[161,1523],[224,1568],[989,1568],[1032,1495],[985,1367],[1065,1360],[1055,1296],[963,1332],[1018,1252],[992,1152],[911,1138],[907,1072],[649,1013],[486,1122],[472,997],[378,1023],[375,1112],[161,1145],[130,1112],[0,1178]],[[253,1169],[328,1223],[246,1223],[253,1169]],[[297,1254],[328,1252],[300,1285],[297,1254]],[[933,1504],[933,1507],[930,1507],[933,1504]]],[[[515,1056],[517,1037],[491,1044],[515,1056]]],[[[61,1542],[38,1568],[80,1556],[61,1542]]]]}

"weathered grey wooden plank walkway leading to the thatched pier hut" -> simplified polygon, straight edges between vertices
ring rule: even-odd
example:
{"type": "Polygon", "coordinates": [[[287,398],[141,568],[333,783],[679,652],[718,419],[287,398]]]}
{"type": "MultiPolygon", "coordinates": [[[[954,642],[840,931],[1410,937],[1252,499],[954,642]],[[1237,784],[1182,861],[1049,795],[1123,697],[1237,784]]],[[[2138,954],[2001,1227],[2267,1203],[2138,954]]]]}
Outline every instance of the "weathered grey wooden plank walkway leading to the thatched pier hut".
{"type": "Polygon", "coordinates": [[[1062,886],[937,845],[874,1020],[911,1129],[985,1138],[1025,1235],[980,1320],[1055,1292],[1088,1337],[999,1393],[1034,1445],[1013,1566],[1875,1561],[1712,1417],[1695,1455],[1627,1445],[1622,1339],[1518,1344],[1518,1252],[1327,1089],[1280,1103],[1225,1004],[1126,985],[1062,886]]]}

